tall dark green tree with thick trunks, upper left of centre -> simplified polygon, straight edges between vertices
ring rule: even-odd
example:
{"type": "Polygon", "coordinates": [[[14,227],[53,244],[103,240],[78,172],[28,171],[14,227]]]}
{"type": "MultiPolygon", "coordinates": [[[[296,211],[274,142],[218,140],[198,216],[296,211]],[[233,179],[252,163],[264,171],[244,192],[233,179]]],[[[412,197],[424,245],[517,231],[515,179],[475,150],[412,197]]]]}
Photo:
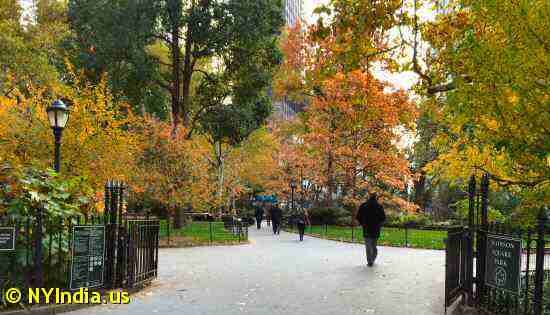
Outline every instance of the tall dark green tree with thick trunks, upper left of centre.
{"type": "MultiPolygon", "coordinates": [[[[279,0],[119,0],[107,4],[72,0],[70,9],[82,51],[93,47],[89,62],[101,65],[99,70],[113,73],[113,77],[127,77],[121,65],[135,69],[147,66],[150,71],[136,70],[144,77],[137,89],[155,85],[165,90],[170,98],[173,133],[182,120],[192,132],[199,122],[195,116],[205,111],[200,103],[193,102],[192,86],[199,72],[205,77],[220,69],[243,73],[250,70],[243,67],[245,62],[261,54],[267,57],[263,62],[273,61],[270,54],[276,51],[275,37],[283,25],[279,0]],[[148,53],[154,43],[164,47],[164,56],[148,53]]],[[[255,65],[273,66],[270,62],[255,65]]],[[[238,84],[237,77],[232,78],[231,83],[238,84]]],[[[249,87],[264,88],[266,78],[256,79],[260,84],[247,80],[249,87]]]]}

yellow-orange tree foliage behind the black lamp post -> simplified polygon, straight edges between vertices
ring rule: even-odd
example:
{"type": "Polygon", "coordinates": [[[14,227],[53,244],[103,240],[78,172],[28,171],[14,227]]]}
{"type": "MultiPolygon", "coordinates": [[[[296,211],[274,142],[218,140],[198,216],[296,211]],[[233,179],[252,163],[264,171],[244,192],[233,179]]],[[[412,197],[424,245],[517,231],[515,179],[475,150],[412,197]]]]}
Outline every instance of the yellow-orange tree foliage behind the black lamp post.
{"type": "Polygon", "coordinates": [[[73,75],[74,86],[44,89],[29,85],[0,97],[1,158],[16,166],[44,169],[52,165],[53,136],[46,108],[64,98],[71,104],[63,133],[62,173],[85,176],[96,189],[111,178],[129,180],[135,171],[135,116],[128,104],[115,102],[107,82],[92,86],[73,75]]]}

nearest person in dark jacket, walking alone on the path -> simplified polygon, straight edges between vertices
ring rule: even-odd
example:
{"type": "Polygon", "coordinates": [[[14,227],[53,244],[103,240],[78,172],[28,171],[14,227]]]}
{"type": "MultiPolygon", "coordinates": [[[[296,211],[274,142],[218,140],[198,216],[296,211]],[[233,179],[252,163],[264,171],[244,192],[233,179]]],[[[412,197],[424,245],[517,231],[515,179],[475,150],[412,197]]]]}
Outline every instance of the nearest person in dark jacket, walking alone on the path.
{"type": "Polygon", "coordinates": [[[378,203],[376,194],[371,194],[369,200],[359,207],[357,221],[363,226],[367,263],[371,267],[378,255],[376,242],[380,238],[380,229],[382,228],[382,223],[386,221],[384,208],[378,203]]]}

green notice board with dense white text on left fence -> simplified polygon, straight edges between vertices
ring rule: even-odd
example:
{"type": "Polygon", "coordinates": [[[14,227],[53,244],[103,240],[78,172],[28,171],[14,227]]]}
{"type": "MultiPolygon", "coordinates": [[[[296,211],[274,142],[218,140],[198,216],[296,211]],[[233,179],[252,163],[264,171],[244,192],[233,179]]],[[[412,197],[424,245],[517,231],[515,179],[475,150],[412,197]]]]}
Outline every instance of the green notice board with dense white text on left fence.
{"type": "Polygon", "coordinates": [[[103,285],[105,226],[73,227],[71,290],[103,285]]]}

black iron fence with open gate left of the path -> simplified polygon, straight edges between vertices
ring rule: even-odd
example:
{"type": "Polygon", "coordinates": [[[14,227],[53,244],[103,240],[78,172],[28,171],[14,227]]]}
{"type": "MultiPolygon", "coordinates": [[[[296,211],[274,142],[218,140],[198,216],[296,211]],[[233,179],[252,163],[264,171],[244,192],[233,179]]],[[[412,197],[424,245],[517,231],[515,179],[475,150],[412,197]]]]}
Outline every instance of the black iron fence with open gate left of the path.
{"type": "Polygon", "coordinates": [[[127,211],[125,189],[106,185],[102,214],[0,217],[0,289],[20,289],[26,303],[29,288],[133,289],[154,279],[160,223],[127,211]]]}

